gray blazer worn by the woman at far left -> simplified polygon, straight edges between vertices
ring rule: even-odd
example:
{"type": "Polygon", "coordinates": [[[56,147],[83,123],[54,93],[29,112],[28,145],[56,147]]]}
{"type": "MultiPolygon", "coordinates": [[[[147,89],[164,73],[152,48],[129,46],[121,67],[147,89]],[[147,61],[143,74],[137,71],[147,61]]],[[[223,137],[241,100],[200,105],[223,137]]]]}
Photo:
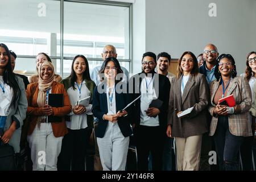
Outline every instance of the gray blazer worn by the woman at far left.
{"type": "Polygon", "coordinates": [[[6,119],[5,124],[5,131],[9,129],[11,123],[16,121],[16,130],[13,133],[13,136],[9,140],[9,144],[14,147],[15,152],[19,152],[20,147],[20,134],[23,125],[23,120],[26,118],[26,111],[27,111],[27,97],[26,97],[26,90],[24,86],[24,82],[22,78],[15,76],[16,81],[18,82],[20,93],[18,95],[18,99],[16,100],[16,106],[11,105],[9,110],[7,111],[8,116],[6,119]]]}

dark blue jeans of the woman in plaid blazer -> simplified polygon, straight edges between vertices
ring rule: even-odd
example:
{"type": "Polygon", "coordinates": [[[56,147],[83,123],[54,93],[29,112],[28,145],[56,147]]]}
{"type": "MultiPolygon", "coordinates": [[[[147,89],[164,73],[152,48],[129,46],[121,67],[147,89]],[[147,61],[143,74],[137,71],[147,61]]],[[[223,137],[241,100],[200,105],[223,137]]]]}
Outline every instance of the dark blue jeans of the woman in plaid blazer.
{"type": "Polygon", "coordinates": [[[230,133],[227,116],[220,115],[218,117],[214,142],[221,171],[238,171],[238,153],[243,138],[230,133]]]}

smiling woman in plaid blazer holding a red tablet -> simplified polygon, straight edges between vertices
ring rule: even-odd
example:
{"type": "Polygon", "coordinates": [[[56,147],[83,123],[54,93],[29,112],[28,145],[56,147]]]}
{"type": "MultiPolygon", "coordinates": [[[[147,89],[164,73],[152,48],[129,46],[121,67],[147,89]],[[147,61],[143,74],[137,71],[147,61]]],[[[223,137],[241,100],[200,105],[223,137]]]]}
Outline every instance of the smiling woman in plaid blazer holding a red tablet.
{"type": "Polygon", "coordinates": [[[218,57],[218,78],[210,84],[212,115],[210,136],[216,144],[221,170],[238,170],[238,152],[244,137],[252,135],[249,122],[251,89],[245,77],[237,77],[236,64],[231,55],[218,57]],[[229,107],[219,100],[233,94],[236,105],[229,107]]]}

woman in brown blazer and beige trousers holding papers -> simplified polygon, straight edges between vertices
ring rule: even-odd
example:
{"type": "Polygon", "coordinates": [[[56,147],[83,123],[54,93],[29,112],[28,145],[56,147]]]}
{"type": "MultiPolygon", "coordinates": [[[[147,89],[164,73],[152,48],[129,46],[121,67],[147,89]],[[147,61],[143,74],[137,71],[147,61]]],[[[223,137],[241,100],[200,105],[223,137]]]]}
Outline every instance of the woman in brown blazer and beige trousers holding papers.
{"type": "Polygon", "coordinates": [[[178,77],[171,83],[166,134],[175,137],[177,169],[199,170],[202,135],[208,131],[209,88],[192,52],[184,52],[178,64],[178,77]],[[189,107],[193,107],[191,113],[177,117],[189,107]]]}

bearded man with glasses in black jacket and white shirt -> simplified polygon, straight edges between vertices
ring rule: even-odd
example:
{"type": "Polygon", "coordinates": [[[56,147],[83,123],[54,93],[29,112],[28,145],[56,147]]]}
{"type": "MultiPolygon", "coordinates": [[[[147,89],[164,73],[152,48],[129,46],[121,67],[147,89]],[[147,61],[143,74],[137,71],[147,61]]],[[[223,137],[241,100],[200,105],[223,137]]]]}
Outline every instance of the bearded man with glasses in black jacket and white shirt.
{"type": "Polygon", "coordinates": [[[167,127],[170,81],[166,76],[156,73],[155,67],[155,53],[146,52],[142,57],[142,72],[129,80],[129,92],[133,100],[141,96],[134,104],[132,122],[134,122],[138,170],[143,171],[148,170],[150,152],[152,170],[162,170],[164,136],[167,127]],[[160,104],[153,106],[151,104],[153,100],[160,104]]]}

